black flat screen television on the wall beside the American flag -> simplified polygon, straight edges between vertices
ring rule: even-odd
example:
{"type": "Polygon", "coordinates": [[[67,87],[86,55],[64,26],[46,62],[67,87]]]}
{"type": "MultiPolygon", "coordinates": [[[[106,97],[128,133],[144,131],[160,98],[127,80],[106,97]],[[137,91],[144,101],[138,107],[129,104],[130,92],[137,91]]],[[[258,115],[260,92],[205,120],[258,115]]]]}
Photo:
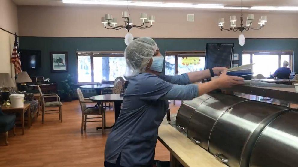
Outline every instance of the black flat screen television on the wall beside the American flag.
{"type": "Polygon", "coordinates": [[[20,49],[20,60],[22,70],[34,70],[41,67],[41,51],[40,50],[24,50],[20,49]]]}

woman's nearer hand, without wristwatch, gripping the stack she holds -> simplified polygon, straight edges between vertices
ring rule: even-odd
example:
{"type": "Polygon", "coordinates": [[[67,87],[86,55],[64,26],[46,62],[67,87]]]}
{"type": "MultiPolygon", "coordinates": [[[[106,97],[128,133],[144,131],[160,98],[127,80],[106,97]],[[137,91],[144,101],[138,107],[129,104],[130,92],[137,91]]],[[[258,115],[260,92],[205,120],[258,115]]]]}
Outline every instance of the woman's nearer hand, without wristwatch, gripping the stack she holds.
{"type": "MultiPolygon", "coordinates": [[[[217,67],[216,67],[217,68],[217,67]]],[[[224,71],[218,78],[214,79],[218,88],[230,88],[235,85],[242,85],[244,78],[238,76],[229,76],[227,71],[224,71]]]]}

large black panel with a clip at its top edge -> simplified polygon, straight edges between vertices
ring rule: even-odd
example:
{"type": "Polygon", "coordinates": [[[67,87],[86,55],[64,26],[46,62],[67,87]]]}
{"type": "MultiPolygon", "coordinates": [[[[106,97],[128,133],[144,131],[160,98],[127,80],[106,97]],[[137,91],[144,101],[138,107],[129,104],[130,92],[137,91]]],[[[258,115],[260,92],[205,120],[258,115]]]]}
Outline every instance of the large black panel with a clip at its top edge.
{"type": "Polygon", "coordinates": [[[213,67],[231,68],[233,53],[233,43],[207,43],[205,69],[213,67]]]}

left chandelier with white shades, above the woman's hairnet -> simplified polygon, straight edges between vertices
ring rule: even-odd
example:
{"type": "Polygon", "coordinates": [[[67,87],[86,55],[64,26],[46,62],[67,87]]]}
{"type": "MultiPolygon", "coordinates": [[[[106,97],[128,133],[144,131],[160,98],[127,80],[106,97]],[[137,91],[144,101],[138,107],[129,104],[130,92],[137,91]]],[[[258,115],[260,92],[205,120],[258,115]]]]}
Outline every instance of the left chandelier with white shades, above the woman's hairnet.
{"type": "Polygon", "coordinates": [[[150,15],[149,17],[147,17],[147,13],[141,13],[140,19],[143,22],[142,25],[133,25],[132,19],[130,19],[130,14],[128,13],[129,12],[128,4],[129,2],[127,0],[127,12],[126,11],[122,12],[124,25],[116,26],[116,24],[118,24],[117,19],[113,18],[111,14],[105,14],[105,17],[102,17],[102,23],[104,24],[105,28],[110,30],[112,29],[120,30],[121,28],[125,28],[129,32],[129,30],[131,30],[134,27],[142,30],[152,27],[152,23],[155,22],[155,16],[150,15]],[[150,23],[150,26],[149,26],[149,23],[150,23]]]}

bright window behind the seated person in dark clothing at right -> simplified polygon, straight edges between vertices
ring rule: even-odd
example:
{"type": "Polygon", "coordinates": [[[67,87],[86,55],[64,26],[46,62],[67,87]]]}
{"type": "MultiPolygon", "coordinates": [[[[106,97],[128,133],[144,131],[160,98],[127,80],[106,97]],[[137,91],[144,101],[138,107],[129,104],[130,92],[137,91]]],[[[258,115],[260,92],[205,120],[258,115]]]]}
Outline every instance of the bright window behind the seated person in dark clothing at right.
{"type": "Polygon", "coordinates": [[[269,77],[278,68],[283,67],[283,62],[289,62],[293,70],[293,52],[243,52],[242,65],[254,63],[254,76],[262,74],[269,77]]]}

